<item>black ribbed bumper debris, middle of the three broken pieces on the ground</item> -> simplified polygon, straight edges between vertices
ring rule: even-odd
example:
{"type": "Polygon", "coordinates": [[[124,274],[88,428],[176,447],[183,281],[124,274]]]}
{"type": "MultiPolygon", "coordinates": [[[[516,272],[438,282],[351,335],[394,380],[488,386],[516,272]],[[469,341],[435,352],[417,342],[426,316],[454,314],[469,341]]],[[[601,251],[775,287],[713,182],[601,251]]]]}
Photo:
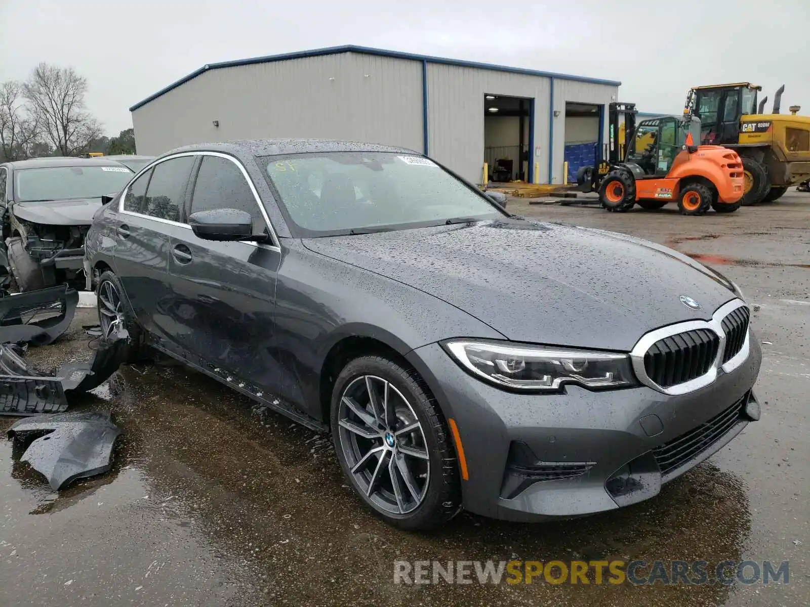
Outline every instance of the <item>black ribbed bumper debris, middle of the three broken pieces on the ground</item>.
{"type": "Polygon", "coordinates": [[[96,340],[87,363],[69,363],[53,373],[29,367],[23,349],[0,344],[0,415],[62,413],[70,393],[92,390],[126,361],[130,335],[121,325],[109,340],[96,340]]]}

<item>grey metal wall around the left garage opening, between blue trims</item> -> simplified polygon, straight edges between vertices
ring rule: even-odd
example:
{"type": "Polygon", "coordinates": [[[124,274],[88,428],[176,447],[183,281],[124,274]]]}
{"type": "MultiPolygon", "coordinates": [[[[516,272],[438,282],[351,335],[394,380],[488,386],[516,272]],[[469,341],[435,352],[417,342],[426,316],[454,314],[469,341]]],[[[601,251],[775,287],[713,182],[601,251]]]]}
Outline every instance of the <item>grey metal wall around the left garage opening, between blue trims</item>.
{"type": "Polygon", "coordinates": [[[473,183],[480,183],[484,165],[484,95],[526,97],[535,100],[534,146],[540,151],[540,180],[544,180],[544,165],[548,165],[549,86],[549,79],[539,76],[429,63],[430,155],[473,183]]]}

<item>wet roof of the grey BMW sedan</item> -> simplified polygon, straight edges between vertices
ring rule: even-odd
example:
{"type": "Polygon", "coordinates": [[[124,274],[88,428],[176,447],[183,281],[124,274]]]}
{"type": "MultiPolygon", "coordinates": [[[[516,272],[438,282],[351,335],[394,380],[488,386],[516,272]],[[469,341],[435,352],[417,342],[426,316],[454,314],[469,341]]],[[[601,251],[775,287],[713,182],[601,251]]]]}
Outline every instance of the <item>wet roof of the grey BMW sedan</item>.
{"type": "Polygon", "coordinates": [[[184,151],[220,151],[237,157],[309,154],[312,152],[372,151],[418,154],[405,147],[382,146],[379,143],[338,141],[333,139],[241,139],[231,142],[195,143],[166,152],[164,156],[184,151]]]}

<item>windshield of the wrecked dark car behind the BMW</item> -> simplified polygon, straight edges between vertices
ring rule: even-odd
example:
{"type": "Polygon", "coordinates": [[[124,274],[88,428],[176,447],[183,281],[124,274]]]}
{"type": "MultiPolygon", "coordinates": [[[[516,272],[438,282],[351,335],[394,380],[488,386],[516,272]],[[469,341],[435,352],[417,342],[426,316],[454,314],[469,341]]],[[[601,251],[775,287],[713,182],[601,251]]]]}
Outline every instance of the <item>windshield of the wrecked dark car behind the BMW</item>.
{"type": "Polygon", "coordinates": [[[120,191],[133,172],[118,167],[47,167],[15,171],[16,202],[98,198],[120,191]]]}

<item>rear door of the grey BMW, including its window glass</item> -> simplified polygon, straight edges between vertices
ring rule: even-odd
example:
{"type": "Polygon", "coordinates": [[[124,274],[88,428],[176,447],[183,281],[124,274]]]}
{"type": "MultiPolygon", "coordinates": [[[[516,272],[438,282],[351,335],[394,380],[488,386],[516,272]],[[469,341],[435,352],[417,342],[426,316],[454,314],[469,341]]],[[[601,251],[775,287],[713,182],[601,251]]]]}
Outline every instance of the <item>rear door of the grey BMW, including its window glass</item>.
{"type": "Polygon", "coordinates": [[[164,321],[168,302],[168,241],[185,227],[184,205],[196,156],[161,160],[122,196],[115,232],[115,271],[144,329],[165,339],[172,327],[164,321]]]}

